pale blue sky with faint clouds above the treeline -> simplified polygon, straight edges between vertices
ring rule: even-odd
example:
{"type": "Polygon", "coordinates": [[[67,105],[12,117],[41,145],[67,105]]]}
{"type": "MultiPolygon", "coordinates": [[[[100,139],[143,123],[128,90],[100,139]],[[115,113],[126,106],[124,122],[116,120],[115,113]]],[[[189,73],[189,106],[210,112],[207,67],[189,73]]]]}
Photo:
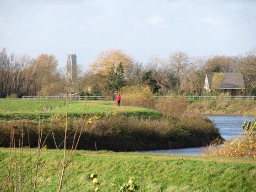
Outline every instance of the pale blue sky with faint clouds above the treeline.
{"type": "Polygon", "coordinates": [[[0,49],[59,66],[76,53],[83,66],[121,49],[135,61],[244,54],[256,47],[256,1],[224,0],[0,0],[0,49]]]}

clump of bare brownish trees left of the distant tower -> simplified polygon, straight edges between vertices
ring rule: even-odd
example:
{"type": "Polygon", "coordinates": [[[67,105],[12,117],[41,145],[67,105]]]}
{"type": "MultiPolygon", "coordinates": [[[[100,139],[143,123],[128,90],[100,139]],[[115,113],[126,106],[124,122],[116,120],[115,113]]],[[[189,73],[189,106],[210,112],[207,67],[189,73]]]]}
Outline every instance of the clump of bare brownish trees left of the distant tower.
{"type": "Polygon", "coordinates": [[[63,91],[63,76],[57,69],[55,56],[41,54],[30,58],[26,54],[0,51],[0,96],[57,94],[63,91]]]}

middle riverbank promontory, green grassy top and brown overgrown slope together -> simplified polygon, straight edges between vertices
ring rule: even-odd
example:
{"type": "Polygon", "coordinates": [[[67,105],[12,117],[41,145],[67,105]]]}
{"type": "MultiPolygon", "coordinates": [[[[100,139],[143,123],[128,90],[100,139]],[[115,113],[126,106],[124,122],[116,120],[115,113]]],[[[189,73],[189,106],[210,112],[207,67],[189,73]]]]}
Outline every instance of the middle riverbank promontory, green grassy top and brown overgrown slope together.
{"type": "MultiPolygon", "coordinates": [[[[37,147],[40,127],[42,140],[46,139],[49,148],[63,147],[65,101],[0,101],[0,146],[8,147],[10,133],[13,133],[16,146],[23,139],[24,146],[37,147]]],[[[141,151],[200,147],[216,139],[222,141],[219,130],[206,117],[185,114],[184,110],[182,113],[176,110],[176,113],[166,116],[145,107],[117,108],[111,101],[72,100],[69,101],[67,147],[72,147],[76,133],[80,135],[77,149],[83,150],[94,150],[95,142],[99,150],[141,151]],[[97,118],[89,120],[95,114],[97,118]]]]}

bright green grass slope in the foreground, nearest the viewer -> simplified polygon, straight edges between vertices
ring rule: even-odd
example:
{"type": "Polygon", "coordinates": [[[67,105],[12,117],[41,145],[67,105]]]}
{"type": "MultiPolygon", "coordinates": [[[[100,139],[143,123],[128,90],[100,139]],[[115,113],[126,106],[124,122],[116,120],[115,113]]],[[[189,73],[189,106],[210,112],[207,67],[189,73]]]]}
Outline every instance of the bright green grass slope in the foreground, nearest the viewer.
{"type": "MultiPolygon", "coordinates": [[[[35,150],[32,150],[34,153],[35,150]]],[[[40,162],[51,157],[53,150],[43,151],[40,162]]],[[[37,191],[56,191],[61,158],[53,155],[38,180],[37,191]]],[[[24,152],[23,174],[29,150],[24,152]]],[[[19,158],[19,157],[18,157],[19,158]]],[[[88,176],[96,172],[96,153],[77,151],[64,178],[63,191],[94,191],[88,176]]],[[[13,165],[14,166],[14,165],[13,165]]],[[[42,166],[41,164],[39,165],[42,166]]],[[[0,149],[0,191],[8,171],[8,149],[0,149]]],[[[13,173],[14,174],[14,173],[13,173]]],[[[15,174],[14,174],[15,175],[15,174]]],[[[115,153],[99,151],[101,191],[118,191],[129,177],[140,191],[255,191],[256,160],[247,158],[188,157],[146,153],[115,153]],[[247,162],[247,163],[241,163],[247,162]]],[[[25,185],[24,191],[28,188],[25,185]]]]}

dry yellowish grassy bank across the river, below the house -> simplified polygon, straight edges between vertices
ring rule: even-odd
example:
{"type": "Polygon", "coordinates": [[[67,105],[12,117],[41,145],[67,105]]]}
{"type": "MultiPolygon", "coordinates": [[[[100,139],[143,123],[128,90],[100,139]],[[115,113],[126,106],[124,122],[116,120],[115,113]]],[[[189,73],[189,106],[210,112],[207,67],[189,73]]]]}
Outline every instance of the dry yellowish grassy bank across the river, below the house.
{"type": "Polygon", "coordinates": [[[188,100],[188,111],[256,116],[255,100],[188,100]]]}

